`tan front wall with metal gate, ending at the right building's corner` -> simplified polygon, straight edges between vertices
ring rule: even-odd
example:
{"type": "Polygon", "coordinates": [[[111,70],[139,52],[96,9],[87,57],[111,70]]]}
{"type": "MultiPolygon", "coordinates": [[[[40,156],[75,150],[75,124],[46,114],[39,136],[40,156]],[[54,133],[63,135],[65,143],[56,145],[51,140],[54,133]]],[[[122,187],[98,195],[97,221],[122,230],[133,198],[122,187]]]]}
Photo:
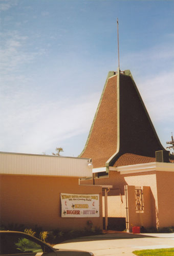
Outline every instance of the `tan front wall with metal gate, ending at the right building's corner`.
{"type": "MultiPolygon", "coordinates": [[[[92,180],[83,181],[82,183],[92,184],[92,180]]],[[[95,184],[113,185],[114,189],[108,193],[108,217],[126,217],[126,197],[125,186],[128,186],[128,216],[130,215],[130,228],[132,225],[141,225],[144,227],[154,226],[158,218],[158,197],[157,197],[157,180],[156,172],[143,172],[132,174],[120,174],[120,172],[110,171],[107,178],[95,179],[95,184]],[[136,214],[135,211],[135,186],[141,186],[144,190],[144,214],[136,214]],[[122,195],[122,202],[120,197],[122,195]],[[157,209],[157,211],[156,211],[157,209]],[[131,225],[132,224],[132,225],[131,225]]],[[[104,196],[104,195],[103,195],[104,196]]],[[[103,216],[104,216],[104,197],[103,197],[103,216]]]]}

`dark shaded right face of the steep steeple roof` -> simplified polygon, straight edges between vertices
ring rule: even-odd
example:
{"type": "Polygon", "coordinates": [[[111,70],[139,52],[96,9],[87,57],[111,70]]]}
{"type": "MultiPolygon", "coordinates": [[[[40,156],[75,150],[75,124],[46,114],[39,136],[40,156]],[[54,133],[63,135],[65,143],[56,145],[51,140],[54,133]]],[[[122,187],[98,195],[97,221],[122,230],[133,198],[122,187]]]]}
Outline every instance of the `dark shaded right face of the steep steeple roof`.
{"type": "MultiPolygon", "coordinates": [[[[120,154],[155,157],[162,150],[133,80],[120,75],[120,154]]],[[[148,162],[148,160],[147,160],[148,162]]]]}

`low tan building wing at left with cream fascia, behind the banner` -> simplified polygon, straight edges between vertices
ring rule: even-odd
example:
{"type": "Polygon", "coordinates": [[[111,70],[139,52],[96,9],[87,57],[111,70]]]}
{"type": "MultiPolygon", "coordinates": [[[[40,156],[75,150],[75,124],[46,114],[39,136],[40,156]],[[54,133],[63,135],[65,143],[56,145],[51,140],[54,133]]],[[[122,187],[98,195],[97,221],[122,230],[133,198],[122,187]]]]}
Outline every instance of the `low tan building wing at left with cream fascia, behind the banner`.
{"type": "Polygon", "coordinates": [[[102,187],[79,185],[79,178],[92,176],[88,165],[89,159],[1,152],[1,223],[75,230],[88,227],[91,220],[94,227],[102,229],[102,187]],[[76,214],[83,210],[79,207],[88,207],[79,200],[66,210],[71,218],[66,214],[63,218],[60,194],[97,195],[98,217],[91,217],[88,211],[88,216],[78,218],[76,214]]]}

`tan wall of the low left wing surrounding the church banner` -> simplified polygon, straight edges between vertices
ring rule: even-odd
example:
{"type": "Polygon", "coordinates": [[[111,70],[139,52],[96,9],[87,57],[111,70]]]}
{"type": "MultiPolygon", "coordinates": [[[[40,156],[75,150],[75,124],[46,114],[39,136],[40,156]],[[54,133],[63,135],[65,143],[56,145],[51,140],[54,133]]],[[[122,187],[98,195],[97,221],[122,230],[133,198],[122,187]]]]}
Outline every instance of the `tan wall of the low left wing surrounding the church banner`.
{"type": "Polygon", "coordinates": [[[100,217],[90,218],[102,229],[102,189],[79,186],[78,178],[1,175],[1,221],[44,228],[82,229],[89,218],[61,218],[60,193],[100,194],[100,217]]]}

